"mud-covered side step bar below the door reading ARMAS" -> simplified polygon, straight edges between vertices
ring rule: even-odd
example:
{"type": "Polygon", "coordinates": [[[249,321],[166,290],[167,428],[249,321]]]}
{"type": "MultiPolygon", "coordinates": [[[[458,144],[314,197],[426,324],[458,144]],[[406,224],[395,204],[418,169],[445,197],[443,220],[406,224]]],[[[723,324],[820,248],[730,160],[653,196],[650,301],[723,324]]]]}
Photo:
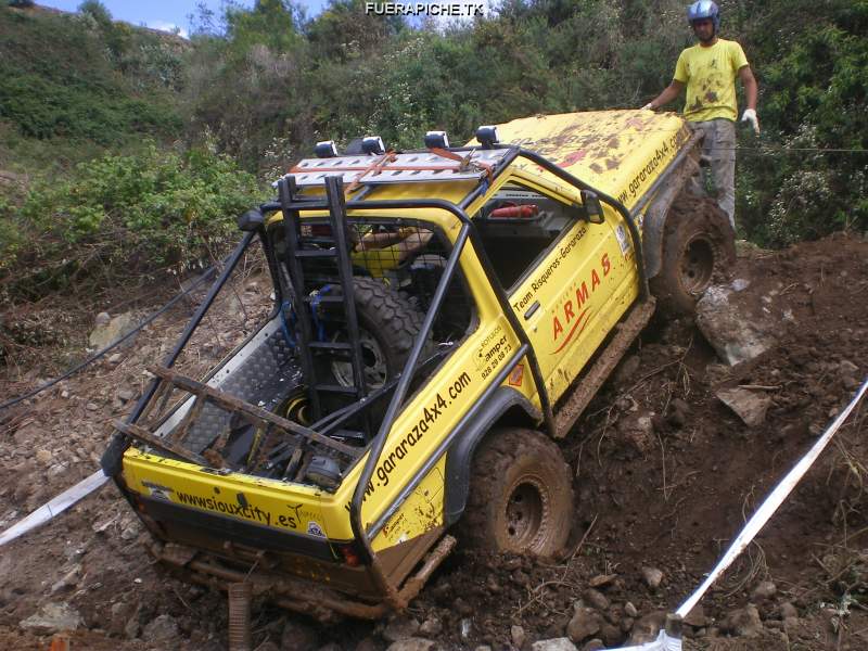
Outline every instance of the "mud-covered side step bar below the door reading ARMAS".
{"type": "Polygon", "coordinates": [[[653,296],[649,297],[648,301],[633,308],[626,321],[618,323],[617,334],[597,358],[590,370],[579,376],[573,388],[573,394],[558,409],[554,418],[554,438],[563,438],[576,424],[578,417],[585,411],[588,403],[597,395],[603,382],[617,366],[617,362],[621,361],[624,352],[651,319],[655,305],[656,299],[653,296]]]}

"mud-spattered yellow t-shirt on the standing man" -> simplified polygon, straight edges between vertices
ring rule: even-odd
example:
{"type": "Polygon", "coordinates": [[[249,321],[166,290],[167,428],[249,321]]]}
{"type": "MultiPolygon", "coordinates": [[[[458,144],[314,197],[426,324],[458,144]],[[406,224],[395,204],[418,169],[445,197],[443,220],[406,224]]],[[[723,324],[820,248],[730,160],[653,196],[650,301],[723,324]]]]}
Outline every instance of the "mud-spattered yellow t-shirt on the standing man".
{"type": "Polygon", "coordinates": [[[736,122],[736,76],[748,65],[744,51],[736,41],[718,38],[711,48],[697,43],[687,48],[675,64],[675,80],[687,85],[685,117],[704,122],[724,117],[736,122]]]}

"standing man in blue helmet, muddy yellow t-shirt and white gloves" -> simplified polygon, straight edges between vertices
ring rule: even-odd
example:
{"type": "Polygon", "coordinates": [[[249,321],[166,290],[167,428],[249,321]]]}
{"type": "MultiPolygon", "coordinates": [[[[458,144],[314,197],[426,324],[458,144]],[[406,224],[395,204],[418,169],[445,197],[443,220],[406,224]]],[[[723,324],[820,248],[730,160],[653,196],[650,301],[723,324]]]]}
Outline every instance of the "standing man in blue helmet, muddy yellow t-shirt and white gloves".
{"type": "MultiPolygon", "coordinates": [[[[741,116],[760,133],[756,117],[756,79],[744,51],[736,41],[718,38],[720,10],[711,0],[693,2],[687,21],[699,43],[685,49],[675,65],[675,75],[663,92],[642,108],[656,111],[676,99],[687,86],[685,117],[705,133],[702,152],[711,158],[711,173],[717,203],[736,228],[736,77],[741,79],[748,108],[741,116]]],[[[694,177],[693,191],[702,192],[701,177],[694,177]]]]}

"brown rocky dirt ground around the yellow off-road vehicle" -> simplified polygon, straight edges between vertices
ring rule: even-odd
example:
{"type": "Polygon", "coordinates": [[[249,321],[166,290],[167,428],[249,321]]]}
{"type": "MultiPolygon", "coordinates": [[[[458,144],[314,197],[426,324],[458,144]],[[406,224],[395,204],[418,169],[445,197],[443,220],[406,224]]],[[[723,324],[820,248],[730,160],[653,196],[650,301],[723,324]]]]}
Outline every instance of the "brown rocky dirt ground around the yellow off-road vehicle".
{"type": "MultiPolygon", "coordinates": [[[[529,649],[567,635],[591,649],[599,647],[589,639],[624,643],[676,609],[868,374],[868,242],[838,235],[781,252],[744,246],[736,278],[748,282],[745,316],[767,322],[777,344],[727,367],[692,321],[652,323],[562,445],[577,497],[563,558],[459,546],[391,622],[324,626],[256,603],[254,647],[386,649],[404,627],[449,649],[529,649]],[[770,399],[762,423],[749,427],[716,396],[739,386],[770,399]],[[591,622],[587,635],[577,630],[579,611],[591,622]]],[[[225,320],[194,342],[187,372],[219,358],[231,334],[258,318],[243,298],[267,292],[255,270],[247,273],[226,298],[225,320]]],[[[69,350],[84,354],[94,315],[65,307],[17,315],[35,331],[42,323],[56,332],[10,349],[0,397],[54,376],[73,359],[69,350]]],[[[98,468],[112,419],[130,409],[146,384],[144,367],[170,349],[191,309],[167,312],[119,355],[0,411],[0,529],[98,468]]],[[[15,317],[5,315],[7,322],[15,317]]],[[[854,412],[691,613],[687,648],[868,648],[866,413],[864,406],[854,412]]],[[[169,577],[150,562],[146,542],[108,485],[0,549],[0,649],[48,649],[50,636],[21,625],[46,604],[80,615],[72,649],[226,649],[225,598],[169,577]]]]}

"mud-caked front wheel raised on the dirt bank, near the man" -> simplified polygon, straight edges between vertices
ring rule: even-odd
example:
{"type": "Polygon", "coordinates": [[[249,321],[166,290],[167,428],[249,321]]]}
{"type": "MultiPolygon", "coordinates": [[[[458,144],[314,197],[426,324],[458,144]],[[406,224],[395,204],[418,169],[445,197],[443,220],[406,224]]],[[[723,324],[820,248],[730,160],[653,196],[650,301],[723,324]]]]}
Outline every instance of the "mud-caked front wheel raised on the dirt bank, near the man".
{"type": "Polygon", "coordinates": [[[729,218],[706,196],[680,194],[666,216],[660,273],[650,280],[658,308],[668,316],[693,315],[713,282],[725,280],[736,263],[729,218]]]}

